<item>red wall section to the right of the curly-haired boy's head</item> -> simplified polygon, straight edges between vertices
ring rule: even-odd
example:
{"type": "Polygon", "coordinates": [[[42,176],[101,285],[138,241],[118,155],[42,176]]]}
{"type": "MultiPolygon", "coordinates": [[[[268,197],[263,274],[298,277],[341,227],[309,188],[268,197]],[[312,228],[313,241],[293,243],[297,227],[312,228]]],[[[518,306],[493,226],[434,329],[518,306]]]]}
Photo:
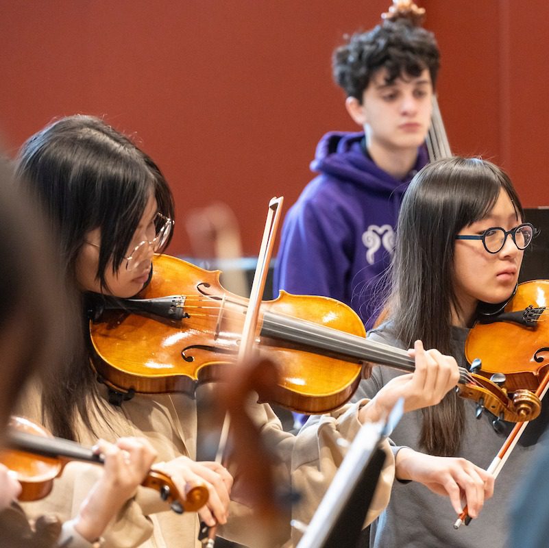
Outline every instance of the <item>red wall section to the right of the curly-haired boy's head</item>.
{"type": "Polygon", "coordinates": [[[549,5],[425,1],[441,47],[441,111],[454,151],[506,169],[524,206],[548,206],[549,5]]]}

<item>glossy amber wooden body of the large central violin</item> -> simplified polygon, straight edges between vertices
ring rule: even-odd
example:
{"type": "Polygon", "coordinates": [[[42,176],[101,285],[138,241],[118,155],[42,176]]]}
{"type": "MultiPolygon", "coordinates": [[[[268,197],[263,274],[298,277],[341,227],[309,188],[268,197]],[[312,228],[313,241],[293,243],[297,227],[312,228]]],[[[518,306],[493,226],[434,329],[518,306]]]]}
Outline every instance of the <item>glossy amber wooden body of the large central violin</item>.
{"type": "MultiPolygon", "coordinates": [[[[220,368],[236,361],[247,310],[247,299],[225,291],[219,284],[219,274],[177,258],[156,256],[154,276],[139,296],[149,299],[182,295],[184,317],[171,321],[121,310],[104,312],[90,329],[99,358],[95,367],[107,384],[124,392],[193,395],[198,383],[219,379],[220,368]]],[[[275,301],[262,303],[257,333],[260,353],[270,355],[276,350],[280,403],[320,413],[350,399],[360,380],[360,360],[334,360],[328,355],[312,354],[303,345],[300,349],[297,344],[266,336],[272,316],[297,316],[311,322],[320,319],[321,325],[364,337],[364,325],[358,316],[328,297],[282,292],[275,301]]]]}

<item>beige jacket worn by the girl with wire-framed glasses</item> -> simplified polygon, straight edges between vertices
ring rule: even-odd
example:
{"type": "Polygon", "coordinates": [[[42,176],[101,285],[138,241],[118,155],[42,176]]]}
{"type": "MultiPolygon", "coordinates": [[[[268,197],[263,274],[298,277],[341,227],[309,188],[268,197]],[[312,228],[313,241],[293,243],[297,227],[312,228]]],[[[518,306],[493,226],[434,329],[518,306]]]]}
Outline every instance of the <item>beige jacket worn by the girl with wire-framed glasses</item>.
{"type": "MultiPolygon", "coordinates": [[[[275,547],[282,543],[287,547],[295,545],[300,534],[291,530],[289,521],[291,518],[302,523],[310,521],[345,453],[337,439],[352,440],[358,432],[361,425],[356,411],[363,403],[347,405],[337,412],[321,416],[298,436],[282,430],[270,406],[252,404],[252,416],[260,426],[267,447],[283,462],[277,481],[297,490],[301,502],[292,508],[286,521],[287,529],[278,531],[276,539],[263,538],[261,534],[258,537],[252,509],[236,502],[232,503],[229,523],[220,534],[252,548],[259,548],[259,545],[275,547]]],[[[109,426],[97,419],[95,433],[98,436],[110,441],[119,436],[145,436],[158,451],[159,461],[169,461],[180,455],[196,458],[197,408],[193,399],[185,395],[136,395],[125,401],[121,408],[114,408],[106,401],[101,405],[108,416],[109,426]]],[[[23,401],[21,414],[40,422],[39,409],[39,397],[30,390],[23,401]]],[[[95,436],[83,425],[78,432],[81,443],[95,443],[95,436]]],[[[386,449],[387,461],[368,521],[375,519],[389,501],[394,460],[388,444],[386,449]]],[[[77,513],[99,473],[98,466],[77,462],[68,464],[62,477],[56,480],[52,493],[42,501],[25,503],[25,512],[31,517],[55,512],[62,521],[70,519],[77,513]]],[[[235,482],[233,493],[238,492],[239,485],[235,482]]],[[[103,537],[105,546],[112,548],[197,548],[201,546],[196,540],[198,525],[197,514],[175,514],[154,490],[139,488],[136,497],[127,501],[103,537]]]]}

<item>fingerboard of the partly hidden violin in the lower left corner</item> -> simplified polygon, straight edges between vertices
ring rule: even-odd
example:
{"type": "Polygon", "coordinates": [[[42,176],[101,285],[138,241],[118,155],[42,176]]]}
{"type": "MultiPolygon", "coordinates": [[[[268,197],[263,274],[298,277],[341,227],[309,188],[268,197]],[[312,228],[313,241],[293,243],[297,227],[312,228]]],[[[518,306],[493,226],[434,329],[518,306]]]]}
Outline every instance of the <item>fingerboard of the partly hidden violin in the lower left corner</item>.
{"type": "Polygon", "coordinates": [[[8,431],[8,445],[13,449],[51,458],[66,458],[68,460],[83,460],[102,464],[101,456],[96,455],[89,447],[62,438],[43,438],[28,432],[15,429],[8,431]]]}

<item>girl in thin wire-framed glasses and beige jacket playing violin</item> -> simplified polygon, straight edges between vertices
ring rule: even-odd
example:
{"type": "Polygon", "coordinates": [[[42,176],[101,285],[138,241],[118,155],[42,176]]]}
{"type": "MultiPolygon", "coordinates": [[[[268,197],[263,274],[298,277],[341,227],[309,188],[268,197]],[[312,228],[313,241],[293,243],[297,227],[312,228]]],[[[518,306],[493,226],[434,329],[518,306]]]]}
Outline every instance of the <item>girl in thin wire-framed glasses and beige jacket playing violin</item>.
{"type": "MultiPolygon", "coordinates": [[[[88,308],[97,295],[136,295],[154,275],[151,259],[164,249],[171,236],[171,192],[149,156],[112,127],[90,116],[60,119],[32,136],[19,154],[19,173],[44,204],[58,234],[58,258],[66,279],[80,290],[82,343],[86,343],[88,308]]],[[[195,401],[183,394],[136,394],[127,401],[113,399],[106,386],[97,382],[87,348],[82,345],[80,353],[60,370],[56,382],[42,386],[40,397],[27,399],[27,407],[34,405],[34,412],[40,415],[41,405],[46,424],[55,434],[70,439],[86,442],[96,435],[106,439],[123,434],[145,436],[163,461],[157,466],[180,477],[180,482],[188,480],[191,466],[192,472],[208,484],[210,501],[200,516],[208,525],[216,521],[224,524],[232,477],[218,464],[191,460],[195,459],[197,436],[201,435],[197,432],[195,401]]],[[[292,482],[303,495],[304,503],[294,512],[297,519],[309,521],[336,463],[341,462],[337,438],[352,438],[364,421],[381,419],[402,395],[406,409],[415,409],[438,403],[455,386],[459,375],[453,358],[424,351],[418,342],[415,360],[417,371],[413,375],[398,377],[371,401],[361,400],[324,416],[319,420],[321,428],[313,435],[308,429],[306,436],[295,438],[282,431],[269,406],[254,406],[254,420],[268,447],[283,463],[280,483],[292,482]]],[[[374,501],[378,512],[387,503],[391,473],[392,456],[374,501]]],[[[235,501],[239,499],[238,491],[235,484],[235,501]]],[[[248,514],[243,512],[245,502],[231,505],[231,519],[223,528],[224,535],[241,543],[247,542],[246,534],[253,529],[248,514]],[[246,521],[239,520],[239,516],[246,521]]],[[[198,522],[191,514],[164,512],[166,506],[156,499],[151,501],[141,490],[129,503],[138,504],[143,515],[154,523],[155,546],[195,546],[198,522]]],[[[123,539],[115,530],[108,534],[113,546],[121,545],[123,539]]],[[[273,546],[289,535],[288,526],[276,541],[263,540],[265,545],[273,546]]]]}

